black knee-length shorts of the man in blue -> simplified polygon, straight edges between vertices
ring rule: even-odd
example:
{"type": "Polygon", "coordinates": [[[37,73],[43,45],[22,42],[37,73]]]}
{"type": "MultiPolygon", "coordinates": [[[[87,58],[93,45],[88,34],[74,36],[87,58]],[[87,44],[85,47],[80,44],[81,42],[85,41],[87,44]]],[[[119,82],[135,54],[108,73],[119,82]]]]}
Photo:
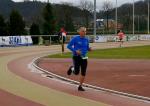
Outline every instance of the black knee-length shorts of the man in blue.
{"type": "Polygon", "coordinates": [[[86,69],[87,69],[87,59],[82,59],[81,56],[73,56],[73,64],[74,64],[74,74],[78,75],[81,69],[81,75],[86,75],[86,69]]]}

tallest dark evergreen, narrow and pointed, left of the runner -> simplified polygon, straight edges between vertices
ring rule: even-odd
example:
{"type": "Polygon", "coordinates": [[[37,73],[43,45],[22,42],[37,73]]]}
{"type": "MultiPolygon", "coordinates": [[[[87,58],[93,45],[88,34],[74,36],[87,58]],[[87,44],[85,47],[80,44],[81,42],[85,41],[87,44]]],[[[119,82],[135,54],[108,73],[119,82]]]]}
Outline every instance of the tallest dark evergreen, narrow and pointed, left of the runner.
{"type": "Polygon", "coordinates": [[[54,34],[56,31],[56,21],[52,10],[53,8],[50,3],[47,3],[43,10],[43,34],[45,35],[54,34]]]}

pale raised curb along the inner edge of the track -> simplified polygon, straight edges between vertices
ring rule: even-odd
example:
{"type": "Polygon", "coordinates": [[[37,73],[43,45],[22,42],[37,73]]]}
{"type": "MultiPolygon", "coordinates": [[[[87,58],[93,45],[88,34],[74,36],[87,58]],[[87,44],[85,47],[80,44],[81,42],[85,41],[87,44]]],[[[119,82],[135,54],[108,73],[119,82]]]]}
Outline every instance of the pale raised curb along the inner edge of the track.
{"type": "MultiPolygon", "coordinates": [[[[74,84],[74,85],[78,85],[79,84],[78,81],[71,80],[71,79],[59,76],[57,74],[54,74],[52,72],[49,72],[47,70],[44,70],[44,69],[38,67],[37,63],[40,60],[40,58],[42,58],[42,57],[44,57],[44,56],[41,56],[41,57],[33,59],[33,61],[30,64],[31,67],[34,68],[34,69],[36,69],[37,71],[41,71],[41,72],[47,74],[46,77],[54,78],[54,79],[57,79],[59,81],[68,82],[68,83],[71,83],[71,84],[74,84]]],[[[115,90],[111,90],[111,89],[106,89],[106,88],[102,88],[102,87],[98,87],[98,86],[94,86],[94,85],[90,85],[90,84],[86,84],[86,83],[84,83],[83,86],[87,87],[87,88],[90,88],[90,89],[98,90],[98,91],[104,91],[106,93],[111,93],[111,94],[116,94],[116,95],[119,95],[119,96],[124,96],[124,97],[128,97],[128,98],[136,99],[136,100],[139,100],[139,101],[150,102],[150,98],[149,97],[144,97],[144,96],[139,96],[139,95],[124,93],[124,92],[119,92],[119,91],[115,91],[115,90]]]]}

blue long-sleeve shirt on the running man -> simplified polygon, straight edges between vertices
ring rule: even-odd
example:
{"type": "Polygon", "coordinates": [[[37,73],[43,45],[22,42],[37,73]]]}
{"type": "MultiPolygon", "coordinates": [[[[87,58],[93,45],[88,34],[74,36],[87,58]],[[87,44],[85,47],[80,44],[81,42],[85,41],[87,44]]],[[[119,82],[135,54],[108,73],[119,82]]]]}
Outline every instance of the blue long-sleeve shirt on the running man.
{"type": "Polygon", "coordinates": [[[89,40],[86,37],[75,36],[68,43],[67,48],[72,51],[73,56],[78,56],[76,51],[81,51],[81,56],[85,57],[89,50],[89,40]]]}

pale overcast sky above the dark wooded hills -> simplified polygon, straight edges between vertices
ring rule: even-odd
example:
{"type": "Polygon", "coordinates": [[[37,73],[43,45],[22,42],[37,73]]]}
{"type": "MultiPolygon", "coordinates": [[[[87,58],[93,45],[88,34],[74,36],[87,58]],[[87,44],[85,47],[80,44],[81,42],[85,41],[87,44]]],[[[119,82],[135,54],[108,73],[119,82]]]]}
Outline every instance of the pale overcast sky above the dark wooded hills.
{"type": "MultiPolygon", "coordinates": [[[[20,1],[24,1],[24,0],[13,0],[16,2],[20,2],[20,1]]],[[[46,2],[47,0],[37,0],[37,1],[44,1],[46,2]]],[[[78,5],[80,3],[80,0],[49,0],[51,3],[61,3],[61,2],[69,2],[69,3],[73,3],[75,5],[78,5]]],[[[88,1],[94,1],[94,0],[88,0],[88,1]]],[[[107,0],[96,0],[97,1],[97,8],[100,9],[102,7],[102,4],[104,1],[107,0]]],[[[115,6],[115,2],[116,0],[108,0],[111,1],[113,3],[113,6],[115,6]]],[[[117,0],[118,1],[118,5],[124,4],[124,3],[132,3],[133,1],[140,1],[140,0],[117,0]]]]}

